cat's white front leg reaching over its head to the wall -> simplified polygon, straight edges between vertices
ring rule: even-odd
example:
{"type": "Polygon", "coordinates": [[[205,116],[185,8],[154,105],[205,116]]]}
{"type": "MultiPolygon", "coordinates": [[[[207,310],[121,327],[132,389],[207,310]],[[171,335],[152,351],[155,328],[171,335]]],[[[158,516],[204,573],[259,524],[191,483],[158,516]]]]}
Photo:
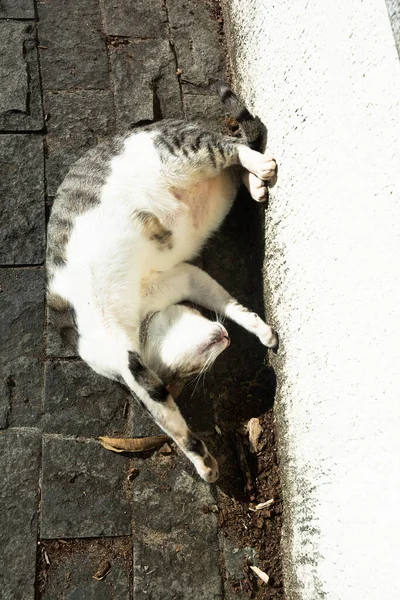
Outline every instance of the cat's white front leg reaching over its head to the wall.
{"type": "Polygon", "coordinates": [[[188,263],[160,273],[148,290],[148,312],[164,310],[171,304],[189,300],[222,314],[256,335],[267,348],[277,349],[278,334],[257,315],[239,304],[210,275],[188,263]]]}

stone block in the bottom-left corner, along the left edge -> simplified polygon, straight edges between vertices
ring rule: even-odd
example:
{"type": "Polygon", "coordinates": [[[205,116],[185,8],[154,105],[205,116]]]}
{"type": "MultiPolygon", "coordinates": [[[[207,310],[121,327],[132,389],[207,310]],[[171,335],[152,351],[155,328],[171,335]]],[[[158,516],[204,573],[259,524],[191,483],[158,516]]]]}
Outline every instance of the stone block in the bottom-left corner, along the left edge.
{"type": "Polygon", "coordinates": [[[2,600],[34,600],[40,435],[0,433],[2,600]]]}

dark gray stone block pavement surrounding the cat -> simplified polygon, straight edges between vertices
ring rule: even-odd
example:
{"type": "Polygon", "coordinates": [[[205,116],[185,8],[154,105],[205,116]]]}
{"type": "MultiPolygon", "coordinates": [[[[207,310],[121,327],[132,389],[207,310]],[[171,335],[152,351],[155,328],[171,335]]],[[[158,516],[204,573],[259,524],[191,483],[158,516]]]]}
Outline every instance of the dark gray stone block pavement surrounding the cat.
{"type": "MultiPolygon", "coordinates": [[[[198,0],[3,0],[0,46],[0,597],[228,598],[207,509],[216,489],[175,451],[130,459],[99,445],[157,428],[63,346],[46,322],[44,271],[55,192],[88,148],[143,121],[221,118],[204,87],[224,76],[218,23],[198,0]],[[94,579],[104,562],[110,573],[94,579]]],[[[246,236],[222,233],[218,268],[214,242],[203,257],[238,297],[249,255],[236,290],[229,252],[246,236]]],[[[232,370],[225,358],[218,369],[232,370]]],[[[182,406],[206,435],[212,405],[193,406],[212,400],[207,385],[182,406]]]]}

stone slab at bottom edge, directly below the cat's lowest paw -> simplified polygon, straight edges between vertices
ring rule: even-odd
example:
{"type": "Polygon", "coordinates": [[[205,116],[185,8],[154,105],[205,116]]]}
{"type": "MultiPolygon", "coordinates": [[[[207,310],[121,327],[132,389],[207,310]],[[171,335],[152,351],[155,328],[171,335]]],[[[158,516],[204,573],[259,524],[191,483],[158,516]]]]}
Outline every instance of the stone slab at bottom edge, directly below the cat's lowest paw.
{"type": "Polygon", "coordinates": [[[181,456],[157,453],[135,465],[135,600],[221,599],[212,488],[181,456]]]}

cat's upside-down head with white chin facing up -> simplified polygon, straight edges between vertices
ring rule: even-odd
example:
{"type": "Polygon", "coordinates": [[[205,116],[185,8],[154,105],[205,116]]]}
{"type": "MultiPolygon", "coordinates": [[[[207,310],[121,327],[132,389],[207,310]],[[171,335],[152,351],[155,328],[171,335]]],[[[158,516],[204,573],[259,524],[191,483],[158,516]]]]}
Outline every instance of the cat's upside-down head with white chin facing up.
{"type": "Polygon", "coordinates": [[[144,323],[141,355],[165,384],[207,370],[230,344],[221,323],[198,310],[174,304],[144,323]]]}

